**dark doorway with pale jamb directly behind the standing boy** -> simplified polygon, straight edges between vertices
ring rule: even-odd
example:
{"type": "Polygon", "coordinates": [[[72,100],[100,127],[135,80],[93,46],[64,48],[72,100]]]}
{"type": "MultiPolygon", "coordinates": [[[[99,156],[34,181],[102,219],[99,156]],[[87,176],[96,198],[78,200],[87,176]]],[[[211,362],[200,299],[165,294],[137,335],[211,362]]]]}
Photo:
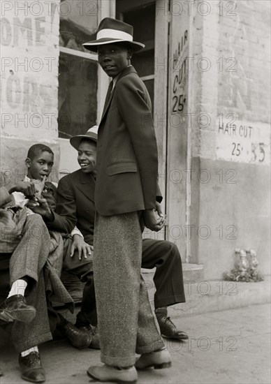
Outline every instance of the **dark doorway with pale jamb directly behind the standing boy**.
{"type": "MultiPolygon", "coordinates": [[[[133,39],[145,44],[132,64],[145,82],[152,99],[152,113],[159,152],[159,186],[166,212],[166,147],[168,121],[168,18],[163,0],[116,0],[116,18],[133,25],[133,39]],[[160,11],[159,11],[160,9],[160,11]]],[[[145,230],[143,237],[165,239],[165,230],[145,230]]]]}

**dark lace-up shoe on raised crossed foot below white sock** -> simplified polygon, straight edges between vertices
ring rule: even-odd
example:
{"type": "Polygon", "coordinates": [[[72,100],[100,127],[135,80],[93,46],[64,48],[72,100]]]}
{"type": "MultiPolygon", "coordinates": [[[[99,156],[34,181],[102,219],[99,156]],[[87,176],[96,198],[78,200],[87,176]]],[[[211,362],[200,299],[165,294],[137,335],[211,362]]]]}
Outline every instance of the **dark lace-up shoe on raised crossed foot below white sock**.
{"type": "Polygon", "coordinates": [[[36,316],[36,309],[27,305],[25,297],[13,295],[8,297],[0,306],[0,319],[8,323],[14,320],[30,323],[36,316]]]}

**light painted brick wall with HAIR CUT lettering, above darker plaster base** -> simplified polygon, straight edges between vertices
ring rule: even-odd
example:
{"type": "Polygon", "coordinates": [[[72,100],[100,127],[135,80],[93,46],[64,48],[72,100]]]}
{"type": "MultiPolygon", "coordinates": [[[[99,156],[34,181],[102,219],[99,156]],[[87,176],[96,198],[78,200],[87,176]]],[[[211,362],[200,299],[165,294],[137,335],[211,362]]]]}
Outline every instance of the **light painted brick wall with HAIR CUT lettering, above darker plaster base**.
{"type": "Polygon", "coordinates": [[[193,17],[193,156],[269,164],[270,3],[206,3],[193,17]]]}

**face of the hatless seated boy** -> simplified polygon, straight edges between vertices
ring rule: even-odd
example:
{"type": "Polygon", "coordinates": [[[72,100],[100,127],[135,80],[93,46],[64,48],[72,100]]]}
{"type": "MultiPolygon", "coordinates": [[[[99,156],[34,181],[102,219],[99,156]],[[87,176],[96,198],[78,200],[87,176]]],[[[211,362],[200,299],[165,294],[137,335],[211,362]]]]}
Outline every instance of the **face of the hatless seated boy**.
{"type": "Polygon", "coordinates": [[[50,152],[40,152],[32,160],[27,158],[26,165],[29,179],[43,180],[43,177],[48,177],[52,171],[54,155],[50,152]]]}

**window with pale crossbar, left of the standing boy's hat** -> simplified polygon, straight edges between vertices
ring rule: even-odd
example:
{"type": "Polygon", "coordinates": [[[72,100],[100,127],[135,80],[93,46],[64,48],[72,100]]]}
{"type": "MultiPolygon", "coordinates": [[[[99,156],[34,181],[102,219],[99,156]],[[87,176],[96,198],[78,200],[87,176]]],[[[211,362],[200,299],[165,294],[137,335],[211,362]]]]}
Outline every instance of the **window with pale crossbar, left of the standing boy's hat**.
{"type": "Polygon", "coordinates": [[[97,121],[97,58],[82,47],[95,38],[97,1],[63,0],[59,13],[59,138],[68,139],[97,121]]]}

